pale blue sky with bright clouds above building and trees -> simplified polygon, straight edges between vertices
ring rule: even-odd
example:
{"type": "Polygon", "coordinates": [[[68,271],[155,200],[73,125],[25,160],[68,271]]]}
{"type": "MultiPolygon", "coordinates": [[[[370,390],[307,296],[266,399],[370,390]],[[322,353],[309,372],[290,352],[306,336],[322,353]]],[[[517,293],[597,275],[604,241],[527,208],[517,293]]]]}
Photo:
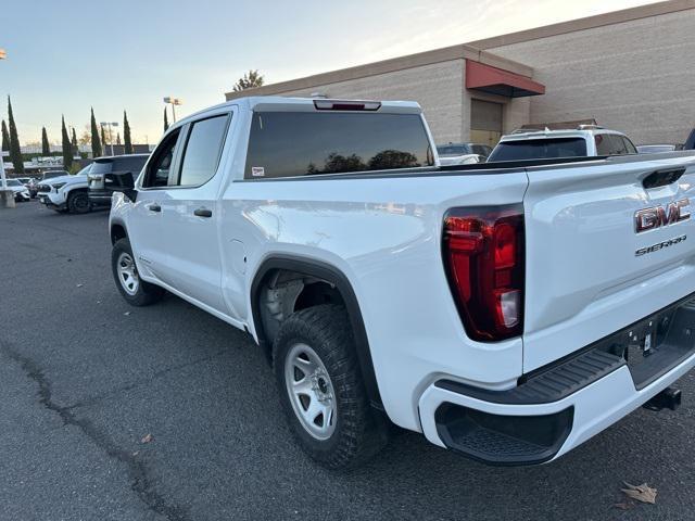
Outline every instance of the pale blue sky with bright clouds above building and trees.
{"type": "MultiPolygon", "coordinates": [[[[23,144],[123,122],[156,142],[164,96],[181,115],[224,101],[249,68],[266,82],[463,43],[646,0],[352,0],[280,2],[2,0],[0,116],[12,96],[23,144]]],[[[178,114],[177,114],[178,115],[178,114]]]]}

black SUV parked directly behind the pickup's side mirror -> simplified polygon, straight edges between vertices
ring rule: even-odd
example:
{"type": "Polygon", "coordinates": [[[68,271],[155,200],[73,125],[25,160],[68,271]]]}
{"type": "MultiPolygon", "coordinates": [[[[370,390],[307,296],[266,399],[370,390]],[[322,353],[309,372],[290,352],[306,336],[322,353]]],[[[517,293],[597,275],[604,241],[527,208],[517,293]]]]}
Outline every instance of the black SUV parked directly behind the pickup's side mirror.
{"type": "Polygon", "coordinates": [[[123,189],[118,186],[122,177],[114,174],[130,173],[135,179],[149,156],[150,154],[127,154],[96,158],[87,176],[89,203],[92,207],[111,206],[113,192],[123,189]]]}

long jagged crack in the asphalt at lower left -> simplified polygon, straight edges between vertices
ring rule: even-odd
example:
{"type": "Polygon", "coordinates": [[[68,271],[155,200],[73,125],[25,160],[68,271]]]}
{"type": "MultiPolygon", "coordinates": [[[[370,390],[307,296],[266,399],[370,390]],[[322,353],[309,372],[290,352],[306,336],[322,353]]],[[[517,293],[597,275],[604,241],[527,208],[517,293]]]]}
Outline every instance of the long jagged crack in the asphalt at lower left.
{"type": "Polygon", "coordinates": [[[39,403],[48,410],[60,416],[63,424],[78,428],[106,456],[124,463],[131,480],[131,490],[149,510],[164,516],[169,521],[188,521],[188,512],[182,507],[168,505],[152,486],[152,479],[147,466],[139,461],[131,452],[119,448],[103,432],[100,432],[91,421],[78,418],[70,408],[61,407],[52,399],[51,382],[41,367],[31,358],[24,356],[7,345],[0,345],[0,351],[11,360],[20,365],[25,374],[36,382],[39,387],[39,403]]]}

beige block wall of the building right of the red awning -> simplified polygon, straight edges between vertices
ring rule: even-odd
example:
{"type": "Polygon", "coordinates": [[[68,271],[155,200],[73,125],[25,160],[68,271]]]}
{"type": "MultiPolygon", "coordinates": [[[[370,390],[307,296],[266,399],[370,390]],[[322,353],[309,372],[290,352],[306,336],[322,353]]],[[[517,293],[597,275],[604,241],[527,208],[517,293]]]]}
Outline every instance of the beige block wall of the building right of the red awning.
{"type": "Polygon", "coordinates": [[[486,50],[546,86],[532,123],[594,117],[635,143],[683,142],[695,126],[694,9],[486,50]]]}

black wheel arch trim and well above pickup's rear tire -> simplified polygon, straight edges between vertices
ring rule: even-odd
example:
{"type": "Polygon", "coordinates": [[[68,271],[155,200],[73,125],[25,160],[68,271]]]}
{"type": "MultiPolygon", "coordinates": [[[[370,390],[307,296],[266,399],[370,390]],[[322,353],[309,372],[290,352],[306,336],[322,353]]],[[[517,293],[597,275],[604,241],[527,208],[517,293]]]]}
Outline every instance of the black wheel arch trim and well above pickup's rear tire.
{"type": "MultiPolygon", "coordinates": [[[[359,309],[359,303],[350,280],[337,267],[321,260],[289,255],[279,255],[266,258],[256,270],[251,284],[251,313],[253,315],[253,323],[258,339],[258,344],[266,351],[268,356],[271,356],[274,339],[266,334],[267,332],[266,327],[264,326],[262,310],[262,297],[264,292],[268,291],[268,284],[274,279],[285,280],[292,283],[292,280],[294,280],[292,274],[295,276],[294,279],[311,280],[311,285],[325,284],[320,289],[312,288],[308,291],[321,294],[329,292],[330,289],[332,289],[340,296],[341,301],[339,303],[344,305],[352,326],[357,360],[359,363],[359,369],[365,381],[369,401],[372,407],[383,410],[381,395],[379,393],[379,386],[374,370],[374,363],[371,360],[367,331],[359,309]]],[[[308,288],[308,285],[303,283],[301,290],[290,290],[288,297],[292,301],[293,310],[303,309],[323,303],[316,300],[316,295],[308,294],[308,292],[305,291],[306,288],[308,288]]]]}

